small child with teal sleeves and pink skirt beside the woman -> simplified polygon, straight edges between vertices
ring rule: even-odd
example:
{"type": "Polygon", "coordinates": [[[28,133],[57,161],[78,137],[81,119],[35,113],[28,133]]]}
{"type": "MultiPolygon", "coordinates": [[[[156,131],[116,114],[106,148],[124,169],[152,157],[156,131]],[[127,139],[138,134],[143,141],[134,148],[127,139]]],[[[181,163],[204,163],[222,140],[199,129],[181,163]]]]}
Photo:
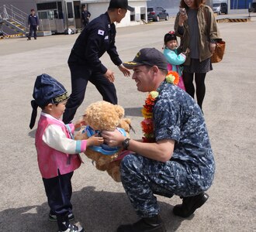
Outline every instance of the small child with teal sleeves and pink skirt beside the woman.
{"type": "MultiPolygon", "coordinates": [[[[187,53],[187,52],[186,52],[187,53]]],[[[172,70],[178,73],[178,87],[185,90],[185,85],[182,78],[181,64],[185,62],[186,53],[178,53],[178,41],[175,32],[171,31],[164,36],[164,56],[168,61],[168,71],[172,70]]]]}

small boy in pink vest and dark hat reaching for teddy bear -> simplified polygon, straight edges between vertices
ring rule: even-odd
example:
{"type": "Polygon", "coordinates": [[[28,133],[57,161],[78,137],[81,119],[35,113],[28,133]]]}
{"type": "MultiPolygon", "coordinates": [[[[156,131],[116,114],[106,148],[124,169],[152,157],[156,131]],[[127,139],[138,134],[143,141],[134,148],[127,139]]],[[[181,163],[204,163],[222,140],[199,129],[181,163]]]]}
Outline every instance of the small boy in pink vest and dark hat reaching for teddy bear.
{"type": "Polygon", "coordinates": [[[53,77],[47,74],[38,76],[33,89],[29,128],[35,125],[37,107],[41,107],[35,140],[37,161],[50,206],[49,220],[57,221],[59,232],[84,232],[82,227],[70,223],[74,219],[71,178],[81,165],[79,153],[85,152],[90,145],[102,144],[103,138],[73,139],[74,128],[78,128],[81,122],[65,125],[61,121],[68,97],[67,90],[53,77]]]}

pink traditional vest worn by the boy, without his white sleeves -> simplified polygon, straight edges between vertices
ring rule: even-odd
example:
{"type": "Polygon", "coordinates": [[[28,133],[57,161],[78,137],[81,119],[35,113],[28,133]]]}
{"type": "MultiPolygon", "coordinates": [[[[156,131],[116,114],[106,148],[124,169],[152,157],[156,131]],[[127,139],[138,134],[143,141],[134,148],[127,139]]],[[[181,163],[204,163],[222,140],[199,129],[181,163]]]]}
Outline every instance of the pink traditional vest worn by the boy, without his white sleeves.
{"type": "Polygon", "coordinates": [[[67,138],[71,138],[64,124],[43,115],[40,116],[36,130],[36,151],[41,175],[46,179],[58,176],[58,170],[61,175],[64,175],[73,172],[81,165],[81,158],[79,155],[68,155],[59,152],[54,148],[50,148],[43,142],[43,133],[48,125],[59,125],[65,135],[67,135],[67,138]]]}

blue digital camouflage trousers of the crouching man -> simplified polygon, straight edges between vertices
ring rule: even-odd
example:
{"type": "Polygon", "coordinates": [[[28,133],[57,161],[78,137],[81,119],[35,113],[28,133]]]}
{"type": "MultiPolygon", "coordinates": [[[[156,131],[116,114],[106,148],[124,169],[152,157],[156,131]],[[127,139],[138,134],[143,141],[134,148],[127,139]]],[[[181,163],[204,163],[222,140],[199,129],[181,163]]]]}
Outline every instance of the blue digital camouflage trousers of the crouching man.
{"type": "Polygon", "coordinates": [[[188,180],[191,177],[188,178],[187,168],[175,161],[158,162],[129,154],[123,158],[120,170],[123,188],[139,217],[152,217],[159,213],[160,207],[154,194],[195,196],[209,188],[201,186],[196,179],[188,180]]]}

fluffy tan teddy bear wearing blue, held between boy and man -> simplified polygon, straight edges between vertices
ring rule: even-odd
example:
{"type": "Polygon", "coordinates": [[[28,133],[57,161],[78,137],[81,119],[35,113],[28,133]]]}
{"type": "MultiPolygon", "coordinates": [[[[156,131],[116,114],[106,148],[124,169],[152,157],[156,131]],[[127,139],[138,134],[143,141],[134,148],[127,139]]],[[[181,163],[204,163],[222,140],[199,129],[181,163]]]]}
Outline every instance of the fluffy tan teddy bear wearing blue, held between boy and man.
{"type": "MultiPolygon", "coordinates": [[[[124,118],[124,109],[119,105],[107,101],[92,103],[86,108],[82,121],[86,126],[78,131],[74,139],[87,139],[94,134],[100,136],[100,131],[114,131],[116,129],[125,137],[130,137],[130,118],[124,118]]],[[[122,152],[122,147],[109,147],[102,144],[86,148],[85,155],[95,162],[96,169],[108,172],[112,179],[120,182],[119,165],[121,159],[118,157],[122,152]]]]}

